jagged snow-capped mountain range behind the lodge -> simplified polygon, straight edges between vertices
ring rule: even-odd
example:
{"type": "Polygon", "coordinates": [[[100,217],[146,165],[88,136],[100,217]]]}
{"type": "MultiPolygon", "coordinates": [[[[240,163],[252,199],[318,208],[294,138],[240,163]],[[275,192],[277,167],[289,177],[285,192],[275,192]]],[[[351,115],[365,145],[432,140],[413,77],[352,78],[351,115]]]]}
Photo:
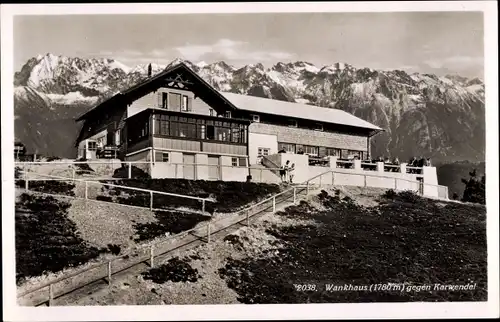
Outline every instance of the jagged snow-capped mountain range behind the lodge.
{"type": "MultiPolygon", "coordinates": [[[[152,64],[152,72],[181,61],[218,90],[340,108],[377,124],[386,131],[373,140],[374,156],[484,160],[484,82],[478,78],[302,61],[237,68],[175,59],[152,64]]],[[[34,152],[73,156],[79,130],[73,119],[145,79],[147,66],[52,54],[29,59],[14,76],[16,137],[34,152]]]]}

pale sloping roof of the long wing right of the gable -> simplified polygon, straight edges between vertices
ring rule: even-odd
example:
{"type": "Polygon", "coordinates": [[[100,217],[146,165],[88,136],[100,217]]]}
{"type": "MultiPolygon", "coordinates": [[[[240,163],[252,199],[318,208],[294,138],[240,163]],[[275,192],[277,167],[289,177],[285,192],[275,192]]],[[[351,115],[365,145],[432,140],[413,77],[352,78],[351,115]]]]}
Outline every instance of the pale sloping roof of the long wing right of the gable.
{"type": "Polygon", "coordinates": [[[376,125],[336,108],[318,107],[235,93],[220,93],[234,105],[238,106],[240,110],[348,125],[370,130],[382,130],[376,125]]]}

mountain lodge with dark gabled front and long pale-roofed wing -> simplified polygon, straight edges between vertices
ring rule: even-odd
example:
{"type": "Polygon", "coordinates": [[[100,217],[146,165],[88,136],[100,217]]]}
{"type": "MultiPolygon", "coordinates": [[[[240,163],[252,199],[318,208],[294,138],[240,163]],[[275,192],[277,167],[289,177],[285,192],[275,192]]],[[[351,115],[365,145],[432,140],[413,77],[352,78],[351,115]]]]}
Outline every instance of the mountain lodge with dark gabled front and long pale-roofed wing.
{"type": "Polygon", "coordinates": [[[153,178],[244,181],[249,167],[278,152],[369,158],[382,131],[352,114],[224,93],[185,64],[148,77],[82,115],[78,157],[112,148],[153,178]]]}

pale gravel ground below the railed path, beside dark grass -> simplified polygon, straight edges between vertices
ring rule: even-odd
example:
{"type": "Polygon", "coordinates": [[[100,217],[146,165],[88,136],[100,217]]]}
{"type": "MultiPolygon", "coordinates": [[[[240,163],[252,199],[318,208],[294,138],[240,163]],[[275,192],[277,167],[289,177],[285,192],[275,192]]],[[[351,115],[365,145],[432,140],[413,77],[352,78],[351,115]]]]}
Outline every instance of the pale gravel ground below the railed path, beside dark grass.
{"type": "MultiPolygon", "coordinates": [[[[250,228],[241,228],[231,235],[238,236],[240,243],[231,243],[222,239],[213,240],[182,254],[172,257],[190,258],[190,265],[201,276],[196,282],[167,281],[157,284],[144,280],[140,274],[132,274],[116,279],[108,289],[104,288],[92,295],[80,298],[68,305],[161,305],[161,304],[235,304],[240,303],[237,294],[227,287],[220,278],[218,270],[226,264],[228,258],[243,259],[249,256],[266,257],[279,254],[276,239],[265,232],[270,226],[295,226],[312,224],[310,221],[266,215],[252,224],[250,228]],[[273,250],[271,253],[264,253],[273,250]]],[[[234,237],[233,237],[234,238],[234,237]]],[[[167,261],[167,260],[166,260],[167,261]]],[[[166,263],[156,263],[155,267],[166,263]]]]}

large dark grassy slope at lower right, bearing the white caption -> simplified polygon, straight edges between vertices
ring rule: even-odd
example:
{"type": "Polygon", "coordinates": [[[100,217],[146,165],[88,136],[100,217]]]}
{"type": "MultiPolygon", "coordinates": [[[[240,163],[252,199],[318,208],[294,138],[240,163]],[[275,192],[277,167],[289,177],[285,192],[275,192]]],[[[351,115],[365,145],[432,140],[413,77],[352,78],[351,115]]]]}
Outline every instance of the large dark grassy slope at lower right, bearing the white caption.
{"type": "Polygon", "coordinates": [[[398,194],[374,208],[321,195],[324,210],[309,204],[278,216],[317,225],[271,228],[284,244],[272,260],[229,260],[221,270],[244,303],[479,301],[486,293],[483,206],[443,203],[398,194]],[[473,291],[327,292],[325,284],[415,285],[476,283],[473,291]],[[296,291],[311,283],[317,290],[296,291]]]}

